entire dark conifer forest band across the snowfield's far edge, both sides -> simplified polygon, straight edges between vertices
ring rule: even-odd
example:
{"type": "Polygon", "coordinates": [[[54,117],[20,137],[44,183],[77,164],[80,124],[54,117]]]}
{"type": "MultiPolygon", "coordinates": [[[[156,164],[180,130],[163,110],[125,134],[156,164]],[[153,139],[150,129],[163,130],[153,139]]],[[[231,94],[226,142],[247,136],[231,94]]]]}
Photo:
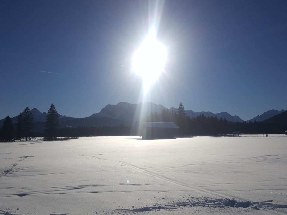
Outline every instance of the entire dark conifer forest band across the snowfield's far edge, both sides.
{"type": "MultiPolygon", "coordinates": [[[[47,114],[44,133],[33,131],[33,115],[27,107],[18,115],[14,125],[9,116],[0,127],[0,141],[29,140],[32,137],[44,137],[45,140],[57,140],[57,137],[80,136],[141,136],[141,123],[131,126],[104,127],[59,127],[58,112],[52,104],[47,114]]],[[[287,130],[287,111],[262,122],[230,122],[225,118],[199,115],[189,117],[180,102],[178,111],[162,110],[161,113],[150,113],[144,118],[146,122],[173,122],[179,126],[178,135],[228,135],[234,131],[244,134],[283,134],[287,130]]]]}

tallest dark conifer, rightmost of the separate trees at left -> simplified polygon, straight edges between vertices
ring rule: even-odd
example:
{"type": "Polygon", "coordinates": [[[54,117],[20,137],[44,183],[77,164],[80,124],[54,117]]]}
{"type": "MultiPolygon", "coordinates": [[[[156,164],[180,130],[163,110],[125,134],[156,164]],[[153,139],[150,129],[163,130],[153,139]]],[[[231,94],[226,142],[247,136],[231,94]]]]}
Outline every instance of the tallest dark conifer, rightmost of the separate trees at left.
{"type": "Polygon", "coordinates": [[[51,104],[46,116],[45,137],[47,140],[57,139],[57,129],[59,127],[59,114],[54,104],[51,104]]]}

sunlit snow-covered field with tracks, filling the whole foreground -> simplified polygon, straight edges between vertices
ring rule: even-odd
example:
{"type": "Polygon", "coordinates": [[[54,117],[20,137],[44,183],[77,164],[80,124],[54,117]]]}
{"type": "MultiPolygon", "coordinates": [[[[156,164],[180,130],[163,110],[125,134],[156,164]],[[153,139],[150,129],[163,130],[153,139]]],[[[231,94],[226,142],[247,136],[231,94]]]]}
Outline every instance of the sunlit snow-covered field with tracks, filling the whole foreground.
{"type": "Polygon", "coordinates": [[[287,137],[0,143],[0,214],[287,214],[287,137]]]}

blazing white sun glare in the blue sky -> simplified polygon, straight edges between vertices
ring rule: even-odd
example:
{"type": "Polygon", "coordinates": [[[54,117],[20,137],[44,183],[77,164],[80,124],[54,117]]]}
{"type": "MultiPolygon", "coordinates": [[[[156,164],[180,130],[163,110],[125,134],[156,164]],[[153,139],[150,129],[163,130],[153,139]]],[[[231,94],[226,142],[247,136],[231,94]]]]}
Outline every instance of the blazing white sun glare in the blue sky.
{"type": "Polygon", "coordinates": [[[156,31],[153,29],[132,58],[132,70],[142,77],[144,92],[164,71],[166,60],[166,47],[156,40],[156,31]]]}

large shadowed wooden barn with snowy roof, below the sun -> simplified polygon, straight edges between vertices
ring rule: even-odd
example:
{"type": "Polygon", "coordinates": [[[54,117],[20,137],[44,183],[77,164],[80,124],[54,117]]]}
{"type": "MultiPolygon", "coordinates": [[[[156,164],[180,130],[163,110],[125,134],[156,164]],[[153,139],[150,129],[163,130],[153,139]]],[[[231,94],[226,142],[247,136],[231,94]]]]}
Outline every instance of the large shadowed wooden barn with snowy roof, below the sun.
{"type": "Polygon", "coordinates": [[[178,129],[175,123],[143,122],[142,139],[172,139],[178,129]]]}

